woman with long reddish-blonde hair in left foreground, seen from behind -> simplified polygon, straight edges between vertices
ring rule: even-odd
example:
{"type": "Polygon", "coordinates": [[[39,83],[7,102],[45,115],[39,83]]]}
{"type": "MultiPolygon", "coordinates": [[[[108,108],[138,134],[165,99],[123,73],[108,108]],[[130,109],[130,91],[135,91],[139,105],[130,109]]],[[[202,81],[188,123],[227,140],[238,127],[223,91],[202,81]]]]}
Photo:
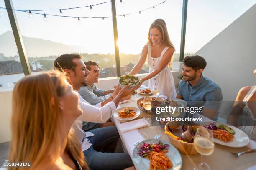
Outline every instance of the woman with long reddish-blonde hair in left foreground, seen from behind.
{"type": "Polygon", "coordinates": [[[30,167],[8,170],[87,170],[72,123],[82,114],[77,93],[59,72],[21,79],[13,90],[9,162],[30,167]]]}

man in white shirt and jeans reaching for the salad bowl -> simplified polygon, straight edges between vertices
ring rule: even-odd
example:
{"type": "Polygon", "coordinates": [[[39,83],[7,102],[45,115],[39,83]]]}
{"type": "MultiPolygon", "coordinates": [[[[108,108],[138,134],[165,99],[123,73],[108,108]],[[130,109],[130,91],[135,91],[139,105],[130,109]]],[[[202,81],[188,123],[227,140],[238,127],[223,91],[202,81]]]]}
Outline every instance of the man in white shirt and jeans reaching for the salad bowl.
{"type": "MultiPolygon", "coordinates": [[[[54,68],[65,72],[67,80],[79,95],[78,90],[86,83],[89,74],[82,61],[82,56],[79,54],[63,54],[54,61],[54,68]]],[[[135,88],[128,90],[128,86],[123,87],[113,101],[104,106],[102,106],[102,103],[95,106],[90,105],[79,95],[79,105],[83,113],[74,121],[72,127],[82,145],[82,151],[90,169],[101,170],[104,167],[105,170],[120,170],[133,166],[133,162],[127,153],[113,153],[119,140],[118,130],[115,126],[85,132],[82,130],[82,121],[106,122],[113,115],[121,99],[130,95],[135,88]]]]}

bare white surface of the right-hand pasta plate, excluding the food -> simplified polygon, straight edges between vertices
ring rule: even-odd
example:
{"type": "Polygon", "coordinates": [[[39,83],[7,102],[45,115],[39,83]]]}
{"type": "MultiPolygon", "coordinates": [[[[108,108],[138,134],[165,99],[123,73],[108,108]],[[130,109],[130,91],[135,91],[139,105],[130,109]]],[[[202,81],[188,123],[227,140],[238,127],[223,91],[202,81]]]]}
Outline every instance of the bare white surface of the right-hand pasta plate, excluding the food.
{"type": "Polygon", "coordinates": [[[248,135],[246,135],[246,133],[244,133],[242,130],[240,130],[234,126],[228,126],[228,127],[232,128],[235,131],[233,140],[230,142],[223,142],[221,140],[213,138],[215,143],[218,143],[218,144],[224,145],[224,146],[235,147],[235,148],[239,148],[239,147],[248,145],[248,143],[250,142],[250,139],[249,139],[248,135]]]}

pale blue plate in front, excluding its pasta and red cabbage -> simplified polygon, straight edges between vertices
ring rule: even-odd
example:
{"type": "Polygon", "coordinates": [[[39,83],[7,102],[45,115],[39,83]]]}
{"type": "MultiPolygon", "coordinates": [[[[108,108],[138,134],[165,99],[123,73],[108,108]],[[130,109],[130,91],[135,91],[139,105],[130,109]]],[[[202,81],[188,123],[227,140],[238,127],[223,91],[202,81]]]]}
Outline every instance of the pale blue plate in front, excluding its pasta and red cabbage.
{"type": "MultiPolygon", "coordinates": [[[[157,143],[159,139],[146,139],[140,142],[137,146],[145,143],[157,143]]],[[[164,153],[172,162],[173,166],[168,170],[180,170],[182,168],[182,157],[179,151],[169,142],[161,140],[164,144],[169,144],[168,153],[164,153]]],[[[137,146],[133,149],[133,163],[137,170],[148,170],[149,169],[149,160],[148,158],[142,158],[137,154],[137,146]]]]}

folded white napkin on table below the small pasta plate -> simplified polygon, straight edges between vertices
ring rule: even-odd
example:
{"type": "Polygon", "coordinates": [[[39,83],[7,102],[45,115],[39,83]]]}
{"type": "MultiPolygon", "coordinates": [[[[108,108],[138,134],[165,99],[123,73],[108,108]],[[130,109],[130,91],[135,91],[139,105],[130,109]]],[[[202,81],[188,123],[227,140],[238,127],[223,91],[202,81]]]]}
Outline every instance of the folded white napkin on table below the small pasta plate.
{"type": "Polygon", "coordinates": [[[133,120],[130,122],[120,124],[120,131],[121,131],[121,133],[125,133],[125,132],[131,131],[131,130],[136,130],[138,128],[146,127],[148,125],[149,125],[149,123],[145,118],[137,119],[137,120],[133,120]]]}

